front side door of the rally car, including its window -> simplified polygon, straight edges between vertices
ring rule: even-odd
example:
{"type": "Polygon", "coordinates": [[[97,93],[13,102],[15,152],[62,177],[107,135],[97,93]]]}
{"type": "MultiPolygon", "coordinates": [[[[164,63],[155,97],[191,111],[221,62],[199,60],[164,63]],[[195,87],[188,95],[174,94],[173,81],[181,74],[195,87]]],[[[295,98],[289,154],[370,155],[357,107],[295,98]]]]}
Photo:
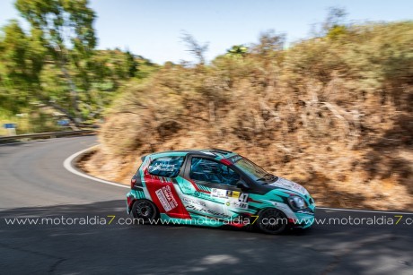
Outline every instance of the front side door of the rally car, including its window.
{"type": "Polygon", "coordinates": [[[181,193],[181,200],[191,215],[235,219],[248,209],[248,193],[236,185],[241,176],[215,159],[189,157],[183,175],[193,187],[181,193]]]}

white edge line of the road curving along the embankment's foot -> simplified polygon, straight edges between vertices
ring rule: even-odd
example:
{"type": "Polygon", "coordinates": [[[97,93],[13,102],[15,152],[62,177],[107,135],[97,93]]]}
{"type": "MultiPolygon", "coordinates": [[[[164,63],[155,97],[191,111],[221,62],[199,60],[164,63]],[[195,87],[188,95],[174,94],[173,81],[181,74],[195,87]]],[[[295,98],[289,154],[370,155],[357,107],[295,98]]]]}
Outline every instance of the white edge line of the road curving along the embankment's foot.
{"type": "MultiPolygon", "coordinates": [[[[96,147],[98,145],[94,145],[90,148],[87,148],[85,150],[80,150],[78,152],[76,152],[75,154],[73,154],[72,156],[70,156],[69,158],[65,159],[65,162],[63,163],[63,166],[66,168],[66,170],[68,170],[69,172],[72,172],[74,174],[76,174],[77,176],[83,176],[85,178],[88,179],[92,179],[94,181],[100,182],[102,184],[106,184],[106,185],[114,185],[114,186],[118,186],[118,187],[123,187],[123,188],[130,188],[127,185],[119,185],[117,183],[113,183],[107,180],[103,180],[101,178],[97,178],[94,176],[89,176],[87,174],[84,174],[78,170],[76,170],[75,168],[72,168],[72,160],[75,159],[77,156],[83,154],[83,152],[86,152],[88,150],[91,150],[93,147],[96,147]]],[[[397,212],[397,211],[364,211],[364,210],[353,210],[353,209],[340,209],[340,208],[329,208],[329,207],[317,207],[317,209],[319,210],[325,210],[325,211],[347,211],[347,212],[365,212],[365,213],[385,213],[385,214],[405,214],[405,215],[413,215],[412,212],[397,212]]]]}

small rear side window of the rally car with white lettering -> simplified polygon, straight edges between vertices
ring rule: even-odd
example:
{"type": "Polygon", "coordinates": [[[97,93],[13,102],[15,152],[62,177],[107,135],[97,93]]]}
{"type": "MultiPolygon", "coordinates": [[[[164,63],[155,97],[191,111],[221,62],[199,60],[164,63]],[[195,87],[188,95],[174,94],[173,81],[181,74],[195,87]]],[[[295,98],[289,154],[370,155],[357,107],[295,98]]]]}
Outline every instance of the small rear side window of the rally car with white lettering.
{"type": "Polygon", "coordinates": [[[180,174],[180,167],[182,166],[184,157],[161,157],[154,159],[149,165],[149,174],[154,176],[175,177],[180,174]]]}

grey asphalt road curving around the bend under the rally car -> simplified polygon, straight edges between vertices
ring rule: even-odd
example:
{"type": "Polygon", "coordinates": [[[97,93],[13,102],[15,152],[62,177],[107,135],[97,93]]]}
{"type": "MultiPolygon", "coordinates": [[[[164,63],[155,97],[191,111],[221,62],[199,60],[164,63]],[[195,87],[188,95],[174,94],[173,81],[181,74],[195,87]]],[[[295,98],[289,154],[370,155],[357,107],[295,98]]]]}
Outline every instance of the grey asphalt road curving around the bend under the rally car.
{"type": "Polygon", "coordinates": [[[315,225],[282,236],[233,229],[121,225],[126,188],[70,173],[64,160],[96,143],[72,137],[0,146],[0,274],[413,274],[413,215],[319,210],[315,225]],[[115,216],[110,224],[109,221],[115,216]],[[63,217],[63,218],[62,218],[63,217]],[[9,224],[7,224],[6,219],[9,224]],[[14,225],[51,218],[55,225],[14,225]],[[78,224],[89,219],[97,224],[78,224]],[[102,222],[101,220],[105,220],[102,222]],[[77,223],[76,223],[77,220],[77,223]],[[64,225],[70,223],[72,225],[64,225]],[[347,219],[347,223],[350,222],[347,219]]]}

